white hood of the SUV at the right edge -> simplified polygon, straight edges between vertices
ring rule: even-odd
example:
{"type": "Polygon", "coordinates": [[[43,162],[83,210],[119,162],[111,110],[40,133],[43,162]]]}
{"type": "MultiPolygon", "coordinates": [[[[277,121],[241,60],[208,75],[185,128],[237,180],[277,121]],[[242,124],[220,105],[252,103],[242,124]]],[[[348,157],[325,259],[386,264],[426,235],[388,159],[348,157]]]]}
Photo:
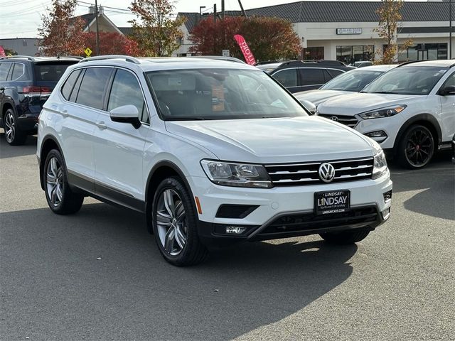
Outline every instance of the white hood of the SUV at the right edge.
{"type": "Polygon", "coordinates": [[[319,114],[355,115],[388,105],[406,104],[426,98],[421,95],[409,94],[368,94],[353,93],[328,99],[318,107],[319,114]]]}

